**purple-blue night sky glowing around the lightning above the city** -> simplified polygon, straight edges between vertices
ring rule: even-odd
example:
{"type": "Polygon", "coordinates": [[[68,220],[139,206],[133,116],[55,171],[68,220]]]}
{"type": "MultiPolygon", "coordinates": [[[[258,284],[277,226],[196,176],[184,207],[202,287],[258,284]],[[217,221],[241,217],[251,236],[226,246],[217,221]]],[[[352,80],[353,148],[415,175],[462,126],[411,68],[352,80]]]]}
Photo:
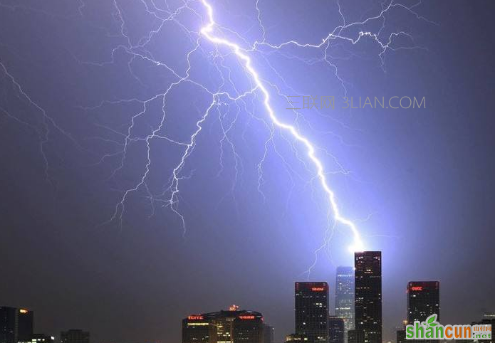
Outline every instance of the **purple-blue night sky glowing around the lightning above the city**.
{"type": "MultiPolygon", "coordinates": [[[[495,4],[403,1],[382,16],[388,1],[341,1],[341,14],[335,1],[259,0],[260,15],[256,1],[211,4],[244,48],[263,39],[258,17],[273,46],[321,43],[343,18],[377,17],[346,37],[402,32],[381,55],[372,38],[335,39],[328,63],[324,48],[250,54],[274,110],[321,148],[340,211],[382,250],[384,338],[405,318],[410,280],[440,281],[446,324],[495,310],[495,4]],[[335,110],[296,116],[275,86],[335,96],[335,110]],[[344,95],[425,97],[426,108],[341,110],[344,95]]],[[[0,0],[0,305],[34,310],[36,332],[177,343],[183,317],[235,303],[282,342],[293,283],[327,281],[333,295],[335,266],[353,263],[301,144],[278,129],[269,140],[260,93],[222,97],[202,122],[170,207],[173,170],[212,102],[200,85],[234,94],[252,82],[205,38],[188,67],[207,16],[198,1],[181,6],[0,0]],[[188,68],[194,83],[157,96],[188,68]]]]}

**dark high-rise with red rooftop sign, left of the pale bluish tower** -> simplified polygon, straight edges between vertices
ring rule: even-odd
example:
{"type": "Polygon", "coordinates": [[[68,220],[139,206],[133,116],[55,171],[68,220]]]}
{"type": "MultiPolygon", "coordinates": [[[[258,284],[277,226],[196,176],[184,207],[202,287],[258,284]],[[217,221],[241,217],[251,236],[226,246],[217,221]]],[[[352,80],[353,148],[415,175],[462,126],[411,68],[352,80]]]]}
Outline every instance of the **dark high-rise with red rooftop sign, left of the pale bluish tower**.
{"type": "Polygon", "coordinates": [[[308,343],[328,339],[328,284],[296,283],[296,334],[308,343]]]}

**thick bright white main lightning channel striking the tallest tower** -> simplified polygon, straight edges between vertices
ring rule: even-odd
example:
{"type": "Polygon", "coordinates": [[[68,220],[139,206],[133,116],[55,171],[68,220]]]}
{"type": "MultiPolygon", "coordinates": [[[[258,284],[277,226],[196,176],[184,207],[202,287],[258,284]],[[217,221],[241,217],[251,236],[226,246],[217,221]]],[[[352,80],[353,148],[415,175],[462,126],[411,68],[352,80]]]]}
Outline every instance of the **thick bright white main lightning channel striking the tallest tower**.
{"type": "Polygon", "coordinates": [[[316,157],[315,148],[313,147],[313,144],[311,144],[311,142],[306,137],[304,137],[301,133],[299,133],[295,127],[278,120],[278,117],[276,117],[275,112],[273,112],[273,109],[271,108],[270,105],[270,94],[268,90],[266,90],[263,83],[261,83],[258,73],[256,72],[256,70],[254,70],[253,66],[251,65],[251,58],[249,58],[249,56],[246,53],[244,53],[236,43],[227,41],[224,38],[212,36],[213,28],[216,25],[213,19],[213,9],[212,6],[208,4],[206,0],[202,0],[202,4],[206,7],[209,18],[209,23],[201,28],[202,35],[208,38],[208,40],[211,41],[212,43],[216,43],[222,46],[228,46],[229,48],[231,48],[231,50],[236,54],[236,56],[240,60],[244,61],[244,66],[246,67],[246,70],[249,71],[249,74],[251,74],[254,83],[256,84],[256,88],[259,88],[259,90],[261,90],[261,92],[264,95],[264,105],[266,108],[266,112],[268,112],[273,124],[275,124],[278,127],[281,127],[283,130],[291,132],[292,136],[296,138],[298,142],[303,143],[304,146],[306,147],[308,157],[309,159],[311,159],[311,162],[313,162],[313,164],[316,167],[318,179],[320,179],[321,186],[323,187],[325,193],[328,195],[328,201],[333,211],[333,218],[335,219],[336,222],[348,226],[348,228],[350,228],[350,231],[352,231],[353,233],[354,241],[353,244],[349,246],[350,252],[354,253],[355,251],[364,250],[363,241],[361,240],[361,235],[358,231],[358,228],[355,226],[355,223],[353,223],[348,218],[345,218],[340,214],[337,201],[335,201],[335,194],[328,186],[328,182],[325,177],[325,170],[323,168],[323,163],[318,159],[318,157],[316,157]]]}

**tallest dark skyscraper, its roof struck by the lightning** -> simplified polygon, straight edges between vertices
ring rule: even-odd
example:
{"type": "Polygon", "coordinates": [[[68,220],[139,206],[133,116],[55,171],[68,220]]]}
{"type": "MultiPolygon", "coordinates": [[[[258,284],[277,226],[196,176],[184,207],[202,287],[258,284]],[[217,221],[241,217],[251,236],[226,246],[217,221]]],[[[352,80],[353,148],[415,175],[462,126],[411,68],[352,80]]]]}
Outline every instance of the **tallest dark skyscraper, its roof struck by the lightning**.
{"type": "Polygon", "coordinates": [[[363,342],[382,343],[382,253],[354,254],[355,330],[363,342]]]}

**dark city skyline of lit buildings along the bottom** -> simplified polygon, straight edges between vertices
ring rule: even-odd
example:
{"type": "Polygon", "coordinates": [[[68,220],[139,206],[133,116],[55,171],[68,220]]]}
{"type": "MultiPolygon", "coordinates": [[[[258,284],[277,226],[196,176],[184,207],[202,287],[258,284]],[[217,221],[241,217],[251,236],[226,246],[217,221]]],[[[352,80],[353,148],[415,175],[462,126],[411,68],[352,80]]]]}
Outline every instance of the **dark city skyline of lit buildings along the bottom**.
{"type": "MultiPolygon", "coordinates": [[[[294,333],[285,334],[285,342],[350,343],[381,342],[382,336],[382,253],[355,253],[354,267],[339,266],[335,275],[335,312],[345,305],[343,317],[331,315],[326,282],[294,284],[294,333]],[[350,282],[349,278],[353,278],[350,282]],[[353,285],[353,289],[349,286],[353,285]],[[348,294],[355,294],[352,305],[348,294]],[[338,295],[340,300],[338,302],[338,295]],[[342,297],[343,296],[343,297],[342,297]],[[349,308],[350,307],[350,308],[349,308]],[[349,310],[355,310],[355,329],[345,327],[349,310]]],[[[439,281],[410,281],[406,287],[406,324],[424,322],[431,315],[440,318],[439,281]]],[[[494,312],[485,312],[481,322],[495,324],[494,312]]],[[[228,310],[191,314],[182,320],[182,343],[273,343],[274,328],[260,312],[230,305],[228,310]]],[[[397,343],[435,342],[408,341],[405,329],[397,330],[397,343]]],[[[25,308],[0,306],[1,343],[55,343],[51,335],[34,333],[34,312],[25,308]]],[[[69,329],[60,333],[60,343],[90,343],[90,333],[69,329]]],[[[464,342],[464,341],[463,341],[464,342]]]]}

